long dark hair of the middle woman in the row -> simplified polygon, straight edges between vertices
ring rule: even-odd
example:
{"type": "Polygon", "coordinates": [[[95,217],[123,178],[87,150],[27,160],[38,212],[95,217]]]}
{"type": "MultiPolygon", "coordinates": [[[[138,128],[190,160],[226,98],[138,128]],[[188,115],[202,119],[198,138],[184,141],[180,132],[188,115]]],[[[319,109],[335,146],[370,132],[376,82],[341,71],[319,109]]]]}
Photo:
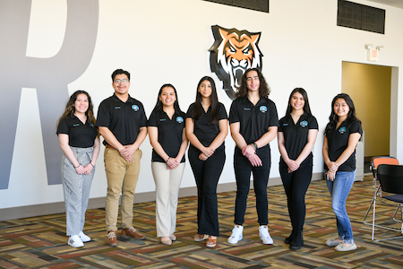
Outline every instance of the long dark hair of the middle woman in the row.
{"type": "Polygon", "coordinates": [[[197,84],[197,91],[196,91],[196,101],[194,102],[194,109],[193,109],[193,120],[198,120],[201,117],[201,93],[199,92],[199,87],[201,82],[209,81],[211,84],[211,95],[210,95],[210,107],[211,107],[211,114],[210,114],[210,125],[214,125],[219,122],[219,98],[217,96],[216,90],[216,83],[210,76],[203,76],[200,82],[197,84]]]}

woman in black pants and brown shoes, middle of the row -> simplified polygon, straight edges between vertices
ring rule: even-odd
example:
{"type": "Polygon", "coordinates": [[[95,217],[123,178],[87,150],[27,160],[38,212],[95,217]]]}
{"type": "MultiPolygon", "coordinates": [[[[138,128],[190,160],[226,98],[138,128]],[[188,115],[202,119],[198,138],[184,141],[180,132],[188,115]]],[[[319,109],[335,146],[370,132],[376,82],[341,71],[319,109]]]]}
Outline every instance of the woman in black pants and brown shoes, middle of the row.
{"type": "Polygon", "coordinates": [[[226,108],[219,103],[216,84],[209,76],[202,77],[197,85],[196,101],[187,110],[185,128],[198,195],[199,228],[194,240],[207,239],[206,246],[215,247],[219,236],[217,185],[226,160],[228,120],[226,108]]]}

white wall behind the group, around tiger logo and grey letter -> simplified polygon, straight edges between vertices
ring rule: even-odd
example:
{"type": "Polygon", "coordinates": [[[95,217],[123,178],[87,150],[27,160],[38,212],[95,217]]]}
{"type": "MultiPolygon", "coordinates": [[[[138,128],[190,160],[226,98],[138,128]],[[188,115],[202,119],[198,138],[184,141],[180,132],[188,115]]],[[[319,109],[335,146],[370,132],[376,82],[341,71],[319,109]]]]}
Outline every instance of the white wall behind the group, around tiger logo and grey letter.
{"type": "MultiPolygon", "coordinates": [[[[384,35],[338,27],[337,0],[270,0],[270,13],[201,0],[102,0],[99,1],[99,33],[92,61],[87,71],[69,85],[69,92],[89,91],[97,111],[100,101],[113,93],[110,74],[116,68],[123,68],[132,74],[129,93],[143,102],[147,116],[157,100],[159,87],[166,82],[176,86],[181,108],[186,110],[195,99],[196,85],[203,75],[212,76],[218,87],[222,86],[210,71],[208,49],[213,43],[210,27],[218,24],[225,28],[261,31],[262,72],[270,84],[270,99],[277,104],[279,117],[284,116],[289,92],[303,87],[308,91],[322,134],[330,115],[330,101],[341,89],[342,61],[371,64],[364,46],[372,43],[384,46],[376,65],[403,66],[400,48],[403,44],[403,10],[368,1],[356,2],[386,9],[384,35]]],[[[52,56],[64,36],[65,22],[60,18],[65,18],[65,2],[34,0],[32,3],[27,55],[52,56]],[[51,18],[47,16],[49,8],[56,13],[51,18]],[[52,29],[39,27],[41,23],[51,23],[52,29]]],[[[402,70],[397,70],[399,77],[403,75],[402,70]]],[[[396,84],[398,90],[392,96],[403,103],[403,94],[399,94],[403,92],[403,85],[396,84]]],[[[219,91],[219,100],[229,110],[231,100],[224,91],[219,91]]],[[[397,158],[403,161],[403,143],[396,142],[397,137],[403,135],[403,115],[402,108],[397,109],[392,117],[396,117],[398,125],[397,132],[392,130],[390,134],[395,137],[390,153],[396,151],[397,158]]],[[[0,208],[63,201],[61,185],[47,186],[38,126],[36,91],[23,89],[10,185],[8,189],[0,190],[0,208]],[[30,141],[26,134],[30,134],[30,141]]],[[[227,163],[219,183],[235,181],[232,166],[235,144],[230,135],[226,145],[227,163]]],[[[103,149],[91,188],[92,198],[106,195],[103,149]]],[[[271,150],[270,178],[278,178],[277,141],[271,143],[271,150]]],[[[150,171],[148,137],[141,145],[141,151],[141,174],[136,192],[152,192],[155,186],[150,171]]],[[[313,154],[313,172],[320,173],[322,135],[318,135],[313,154]]],[[[194,186],[187,163],[181,187],[194,186]]]]}

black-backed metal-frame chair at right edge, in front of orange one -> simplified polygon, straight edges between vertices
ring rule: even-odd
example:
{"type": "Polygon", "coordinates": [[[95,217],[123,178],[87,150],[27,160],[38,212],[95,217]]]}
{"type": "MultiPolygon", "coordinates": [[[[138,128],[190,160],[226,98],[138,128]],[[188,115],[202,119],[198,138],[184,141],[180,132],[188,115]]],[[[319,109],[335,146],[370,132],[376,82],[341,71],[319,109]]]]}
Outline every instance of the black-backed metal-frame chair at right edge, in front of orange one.
{"type": "MultiPolygon", "coordinates": [[[[377,189],[377,192],[386,192],[388,195],[382,195],[382,199],[389,200],[390,202],[398,203],[398,209],[396,209],[394,216],[400,209],[400,220],[399,222],[403,223],[403,212],[402,212],[402,204],[403,204],[403,165],[390,165],[390,164],[380,164],[377,169],[377,177],[380,183],[380,186],[377,189]]],[[[377,195],[374,196],[373,200],[373,242],[378,242],[382,240],[389,239],[403,239],[403,236],[392,237],[386,239],[377,239],[375,240],[375,226],[380,227],[382,229],[393,230],[399,232],[400,234],[403,232],[403,228],[396,229],[390,226],[379,226],[375,225],[375,215],[376,215],[376,202],[380,197],[377,195]]],[[[385,201],[386,202],[386,201],[385,201]]],[[[391,203],[382,203],[395,207],[396,204],[391,203]]],[[[393,218],[395,220],[395,218],[393,218]]],[[[398,220],[395,220],[398,221],[398,220]]]]}

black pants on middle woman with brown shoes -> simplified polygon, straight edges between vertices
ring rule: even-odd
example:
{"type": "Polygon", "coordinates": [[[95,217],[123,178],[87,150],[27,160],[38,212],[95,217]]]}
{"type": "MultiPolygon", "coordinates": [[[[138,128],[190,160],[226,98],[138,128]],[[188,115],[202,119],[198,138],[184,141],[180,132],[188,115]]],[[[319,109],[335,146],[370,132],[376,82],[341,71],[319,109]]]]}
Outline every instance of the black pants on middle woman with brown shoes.
{"type": "Polygon", "coordinates": [[[197,233],[219,236],[217,185],[226,161],[225,146],[222,144],[206,161],[199,159],[200,153],[193,145],[189,147],[189,162],[197,186],[197,233]]]}

